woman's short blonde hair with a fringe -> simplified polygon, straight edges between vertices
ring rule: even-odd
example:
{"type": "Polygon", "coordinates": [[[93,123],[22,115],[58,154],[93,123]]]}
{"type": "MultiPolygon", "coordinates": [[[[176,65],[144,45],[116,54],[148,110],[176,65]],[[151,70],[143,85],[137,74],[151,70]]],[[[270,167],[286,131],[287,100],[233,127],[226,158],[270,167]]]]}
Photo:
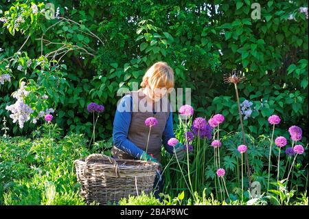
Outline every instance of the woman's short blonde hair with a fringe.
{"type": "Polygon", "coordinates": [[[167,62],[155,62],[145,73],[141,87],[146,87],[146,80],[151,90],[156,88],[174,88],[174,71],[167,62]]]}

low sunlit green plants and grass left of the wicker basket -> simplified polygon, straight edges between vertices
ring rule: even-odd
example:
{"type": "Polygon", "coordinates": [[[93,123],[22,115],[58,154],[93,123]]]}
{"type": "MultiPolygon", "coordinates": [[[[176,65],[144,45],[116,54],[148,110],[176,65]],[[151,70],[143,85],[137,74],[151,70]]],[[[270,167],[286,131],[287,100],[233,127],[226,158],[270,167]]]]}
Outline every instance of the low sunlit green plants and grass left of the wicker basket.
{"type": "Polygon", "coordinates": [[[73,161],[108,143],[87,148],[84,135],[62,137],[53,124],[37,133],[34,139],[0,138],[0,205],[85,205],[73,161]]]}

